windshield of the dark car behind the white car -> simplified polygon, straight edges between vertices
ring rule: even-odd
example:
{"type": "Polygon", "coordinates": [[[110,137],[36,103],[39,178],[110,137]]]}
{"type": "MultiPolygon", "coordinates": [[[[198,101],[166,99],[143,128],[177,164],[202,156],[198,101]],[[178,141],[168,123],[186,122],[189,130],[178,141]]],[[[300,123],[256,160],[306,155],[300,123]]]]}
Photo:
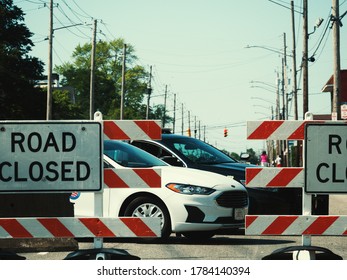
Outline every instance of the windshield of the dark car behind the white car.
{"type": "Polygon", "coordinates": [[[198,164],[234,163],[235,159],[195,138],[166,138],[165,143],[177,155],[198,164]]]}

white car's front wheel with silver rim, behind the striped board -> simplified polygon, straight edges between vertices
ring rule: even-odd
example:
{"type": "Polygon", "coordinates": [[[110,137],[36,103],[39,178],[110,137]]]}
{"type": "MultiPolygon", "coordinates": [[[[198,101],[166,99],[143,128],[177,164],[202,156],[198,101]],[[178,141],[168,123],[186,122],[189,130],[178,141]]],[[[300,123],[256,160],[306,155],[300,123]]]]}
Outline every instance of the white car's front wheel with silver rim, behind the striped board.
{"type": "Polygon", "coordinates": [[[126,207],[124,215],[126,217],[160,218],[161,238],[166,239],[171,234],[171,219],[169,211],[160,200],[141,196],[135,198],[126,207]]]}

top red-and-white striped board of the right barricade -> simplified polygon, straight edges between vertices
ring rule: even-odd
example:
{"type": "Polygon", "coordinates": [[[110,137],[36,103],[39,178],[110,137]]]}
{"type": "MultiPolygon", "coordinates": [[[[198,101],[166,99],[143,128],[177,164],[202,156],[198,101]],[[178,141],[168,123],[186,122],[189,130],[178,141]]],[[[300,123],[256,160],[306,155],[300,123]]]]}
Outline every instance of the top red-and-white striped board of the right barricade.
{"type": "Polygon", "coordinates": [[[266,120],[248,121],[248,140],[304,140],[306,123],[346,123],[346,121],[321,121],[321,120],[266,120]]]}

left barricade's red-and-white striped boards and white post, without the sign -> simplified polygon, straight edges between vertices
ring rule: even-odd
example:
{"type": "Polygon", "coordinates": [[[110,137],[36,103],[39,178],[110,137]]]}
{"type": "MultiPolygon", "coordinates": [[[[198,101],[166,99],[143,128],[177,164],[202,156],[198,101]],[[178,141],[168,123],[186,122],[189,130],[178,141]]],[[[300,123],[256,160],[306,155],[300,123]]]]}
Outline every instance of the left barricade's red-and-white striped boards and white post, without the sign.
{"type": "MultiPolygon", "coordinates": [[[[161,139],[161,122],[157,120],[104,121],[102,114],[96,112],[94,114],[95,122],[99,122],[102,126],[101,147],[103,147],[104,139],[161,139]]],[[[78,124],[78,121],[75,123],[78,124]]],[[[87,122],[83,121],[83,123],[88,128],[87,122]]],[[[63,122],[61,124],[64,125],[63,122]]],[[[31,122],[30,125],[32,129],[35,122],[31,122]]],[[[38,125],[42,125],[42,122],[38,125]]],[[[102,162],[102,158],[100,161],[102,162]]],[[[94,238],[95,249],[102,249],[103,238],[160,237],[159,218],[104,217],[103,188],[160,188],[161,170],[156,168],[105,168],[101,174],[102,183],[100,185],[102,188],[100,191],[94,191],[94,217],[0,218],[0,239],[91,237],[94,238]]],[[[78,197],[79,191],[83,190],[72,191],[73,195],[78,197]]],[[[93,191],[93,189],[89,189],[89,191],[93,191]]]]}

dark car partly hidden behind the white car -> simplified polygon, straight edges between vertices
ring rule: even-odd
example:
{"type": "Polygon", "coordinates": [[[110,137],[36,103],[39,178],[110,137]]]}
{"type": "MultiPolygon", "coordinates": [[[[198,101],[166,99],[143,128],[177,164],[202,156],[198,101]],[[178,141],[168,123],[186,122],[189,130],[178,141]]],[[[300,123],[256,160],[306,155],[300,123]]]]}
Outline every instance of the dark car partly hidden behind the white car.
{"type": "MultiPolygon", "coordinates": [[[[139,147],[173,166],[200,169],[232,176],[245,183],[245,169],[252,167],[237,161],[217,148],[193,137],[163,133],[161,140],[132,141],[139,147]]],[[[249,214],[297,215],[302,213],[300,188],[247,188],[249,214]]]]}

